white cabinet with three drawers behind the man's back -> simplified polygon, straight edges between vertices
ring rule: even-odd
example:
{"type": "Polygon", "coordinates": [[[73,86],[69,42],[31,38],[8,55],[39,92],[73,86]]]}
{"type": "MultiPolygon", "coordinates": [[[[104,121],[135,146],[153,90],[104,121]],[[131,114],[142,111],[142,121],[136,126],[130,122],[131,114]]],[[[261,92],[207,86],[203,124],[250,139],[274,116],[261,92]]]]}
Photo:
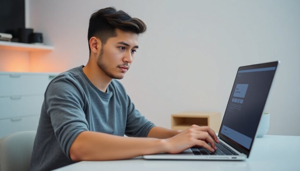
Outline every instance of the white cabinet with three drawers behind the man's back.
{"type": "Polygon", "coordinates": [[[0,137],[37,130],[46,87],[56,75],[0,72],[0,137]]]}

